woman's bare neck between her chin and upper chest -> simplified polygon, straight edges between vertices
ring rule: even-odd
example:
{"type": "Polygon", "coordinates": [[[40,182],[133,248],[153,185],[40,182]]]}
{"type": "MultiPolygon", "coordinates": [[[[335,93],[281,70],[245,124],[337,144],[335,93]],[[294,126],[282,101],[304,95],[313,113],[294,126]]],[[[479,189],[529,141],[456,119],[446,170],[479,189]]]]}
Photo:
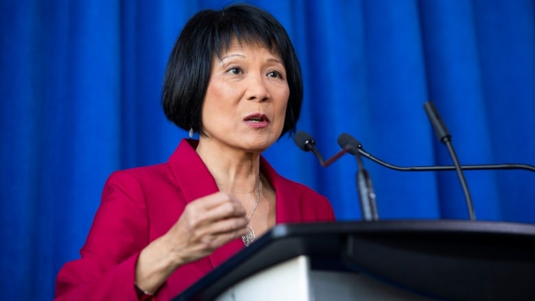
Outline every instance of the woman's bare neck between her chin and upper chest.
{"type": "Polygon", "coordinates": [[[260,154],[215,145],[201,138],[196,152],[220,191],[232,195],[256,194],[260,181],[260,154]]]}

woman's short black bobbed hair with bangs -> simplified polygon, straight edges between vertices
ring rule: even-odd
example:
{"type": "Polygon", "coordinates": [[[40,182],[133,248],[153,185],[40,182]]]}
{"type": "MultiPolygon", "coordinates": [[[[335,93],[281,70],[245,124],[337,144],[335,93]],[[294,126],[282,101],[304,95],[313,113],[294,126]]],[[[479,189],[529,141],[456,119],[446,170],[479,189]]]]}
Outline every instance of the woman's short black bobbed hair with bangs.
{"type": "Polygon", "coordinates": [[[162,91],[165,116],[179,128],[204,134],[202,103],[211,76],[212,60],[228,50],[233,38],[240,43],[260,43],[281,56],[289,86],[281,136],[294,133],[303,94],[296,52],[281,23],[265,10],[248,4],[202,10],[186,23],[167,62],[162,91]]]}

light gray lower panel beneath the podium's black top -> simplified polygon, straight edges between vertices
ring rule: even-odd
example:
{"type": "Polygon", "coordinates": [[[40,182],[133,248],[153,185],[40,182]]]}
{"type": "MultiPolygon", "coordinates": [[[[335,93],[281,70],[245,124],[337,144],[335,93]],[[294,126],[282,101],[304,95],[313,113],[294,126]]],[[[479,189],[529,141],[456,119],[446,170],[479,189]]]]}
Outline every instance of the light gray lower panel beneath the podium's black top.
{"type": "Polygon", "coordinates": [[[217,301],[431,300],[361,273],[311,269],[301,255],[241,280],[217,301]]]}

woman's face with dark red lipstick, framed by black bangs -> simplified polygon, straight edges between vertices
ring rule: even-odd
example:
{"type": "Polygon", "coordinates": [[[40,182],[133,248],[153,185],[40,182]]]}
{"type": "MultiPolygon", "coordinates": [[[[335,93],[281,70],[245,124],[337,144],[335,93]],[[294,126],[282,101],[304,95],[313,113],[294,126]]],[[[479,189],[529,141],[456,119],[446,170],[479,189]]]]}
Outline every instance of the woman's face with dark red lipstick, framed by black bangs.
{"type": "Polygon", "coordinates": [[[203,142],[262,152],[283,130],[289,86],[281,58],[257,44],[233,40],[213,59],[202,106],[203,142]]]}

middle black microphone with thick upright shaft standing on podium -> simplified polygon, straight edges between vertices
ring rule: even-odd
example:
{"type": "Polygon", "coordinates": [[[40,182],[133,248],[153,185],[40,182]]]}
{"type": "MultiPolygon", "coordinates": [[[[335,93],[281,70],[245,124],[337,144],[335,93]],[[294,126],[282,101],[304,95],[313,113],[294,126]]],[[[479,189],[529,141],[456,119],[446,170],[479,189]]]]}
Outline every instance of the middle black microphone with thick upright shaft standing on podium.
{"type": "Polygon", "coordinates": [[[357,192],[359,193],[360,208],[362,211],[362,219],[365,221],[377,221],[379,215],[377,213],[377,202],[375,200],[375,192],[373,190],[372,179],[370,174],[364,168],[364,163],[358,152],[358,142],[343,133],[338,136],[338,145],[342,149],[346,149],[349,154],[352,154],[357,159],[357,192]]]}

